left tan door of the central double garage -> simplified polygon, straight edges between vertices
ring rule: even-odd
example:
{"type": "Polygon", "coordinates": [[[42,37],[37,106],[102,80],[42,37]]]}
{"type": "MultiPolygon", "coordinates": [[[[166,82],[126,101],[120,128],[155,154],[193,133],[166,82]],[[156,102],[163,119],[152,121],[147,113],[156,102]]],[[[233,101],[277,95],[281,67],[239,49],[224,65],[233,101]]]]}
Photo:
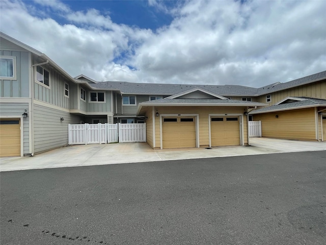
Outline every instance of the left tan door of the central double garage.
{"type": "Polygon", "coordinates": [[[194,117],[165,117],[162,120],[163,149],[196,147],[194,117]]]}

